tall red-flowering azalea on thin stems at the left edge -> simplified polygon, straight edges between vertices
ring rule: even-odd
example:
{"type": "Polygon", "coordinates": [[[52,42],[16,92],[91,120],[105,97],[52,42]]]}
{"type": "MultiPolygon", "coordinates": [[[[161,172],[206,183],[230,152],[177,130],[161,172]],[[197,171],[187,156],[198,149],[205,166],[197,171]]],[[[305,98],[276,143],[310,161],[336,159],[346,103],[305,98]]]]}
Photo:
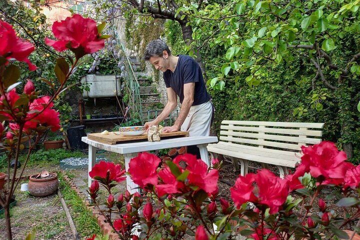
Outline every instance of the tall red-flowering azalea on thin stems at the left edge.
{"type": "Polygon", "coordinates": [[[49,92],[52,92],[51,95],[40,96],[40,91],[35,89],[31,80],[27,80],[23,89],[17,89],[21,84],[18,61],[26,62],[31,71],[36,69],[28,59],[34,46],[19,38],[10,24],[0,20],[0,147],[7,154],[7,183],[0,191],[0,204],[5,209],[9,240],[12,239],[9,203],[30,152],[47,130],[60,129],[59,113],[52,108],[53,100],[71,87],[65,87],[65,83],[76,71],[79,59],[104,46],[104,39],[108,36],[100,34],[103,27],[104,24],[96,26],[94,20],[78,14],[52,25],[52,32],[57,39],[46,38],[45,42],[64,57],[56,59],[54,72],[57,79],[39,79],[47,83],[51,89],[49,92]],[[56,89],[55,81],[59,85],[56,89]],[[27,155],[21,169],[18,169],[19,153],[25,145],[28,147],[27,155]],[[10,171],[11,160],[14,160],[14,168],[10,171]]]}

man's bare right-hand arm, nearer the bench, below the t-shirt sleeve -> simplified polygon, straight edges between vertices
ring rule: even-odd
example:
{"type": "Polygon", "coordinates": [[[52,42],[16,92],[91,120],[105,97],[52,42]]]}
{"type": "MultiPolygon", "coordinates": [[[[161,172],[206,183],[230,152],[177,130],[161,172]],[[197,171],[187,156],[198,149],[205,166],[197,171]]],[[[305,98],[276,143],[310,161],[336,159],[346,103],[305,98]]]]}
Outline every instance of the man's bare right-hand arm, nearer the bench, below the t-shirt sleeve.
{"type": "Polygon", "coordinates": [[[182,123],[185,121],[187,113],[189,112],[190,107],[192,106],[193,103],[195,83],[194,82],[185,83],[183,90],[184,90],[184,99],[181,104],[180,113],[175,123],[172,126],[165,126],[162,132],[178,131],[182,123]]]}

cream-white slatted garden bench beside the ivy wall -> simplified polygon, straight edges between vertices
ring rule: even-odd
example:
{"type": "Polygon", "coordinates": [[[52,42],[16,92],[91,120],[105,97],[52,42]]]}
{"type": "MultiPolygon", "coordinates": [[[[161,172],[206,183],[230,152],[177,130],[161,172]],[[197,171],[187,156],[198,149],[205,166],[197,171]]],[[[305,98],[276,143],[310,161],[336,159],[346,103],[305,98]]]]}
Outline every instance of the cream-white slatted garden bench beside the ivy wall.
{"type": "Polygon", "coordinates": [[[276,165],[280,177],[288,173],[287,167],[294,167],[300,161],[298,152],[301,145],[321,142],[324,123],[311,122],[273,122],[273,121],[234,121],[221,122],[220,141],[208,144],[211,157],[223,154],[231,158],[234,171],[245,175],[248,160],[276,165]],[[238,159],[237,159],[238,158],[238,159]]]}

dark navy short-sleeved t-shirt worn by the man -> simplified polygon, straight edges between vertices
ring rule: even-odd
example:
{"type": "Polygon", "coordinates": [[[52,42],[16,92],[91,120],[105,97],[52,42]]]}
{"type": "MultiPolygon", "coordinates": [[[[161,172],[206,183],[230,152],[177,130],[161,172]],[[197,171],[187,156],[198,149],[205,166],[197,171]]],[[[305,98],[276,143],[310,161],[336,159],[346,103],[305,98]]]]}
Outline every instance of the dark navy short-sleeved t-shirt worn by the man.
{"type": "Polygon", "coordinates": [[[167,69],[163,73],[166,87],[171,87],[180,98],[182,103],[183,84],[195,82],[194,101],[192,105],[198,105],[210,100],[210,95],[206,91],[205,83],[202,78],[201,68],[198,63],[187,55],[179,55],[175,71],[167,69]]]}

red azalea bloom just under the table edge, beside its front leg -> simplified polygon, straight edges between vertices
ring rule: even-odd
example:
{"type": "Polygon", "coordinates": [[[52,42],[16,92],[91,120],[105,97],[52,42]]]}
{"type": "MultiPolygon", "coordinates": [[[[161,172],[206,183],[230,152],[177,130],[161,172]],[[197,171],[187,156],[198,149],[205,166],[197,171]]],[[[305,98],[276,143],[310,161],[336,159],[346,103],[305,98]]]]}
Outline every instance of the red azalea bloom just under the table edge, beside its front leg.
{"type": "Polygon", "coordinates": [[[160,163],[157,156],[143,152],[132,158],[129,162],[128,172],[134,183],[144,188],[147,184],[156,185],[157,183],[157,167],[160,163]]]}

